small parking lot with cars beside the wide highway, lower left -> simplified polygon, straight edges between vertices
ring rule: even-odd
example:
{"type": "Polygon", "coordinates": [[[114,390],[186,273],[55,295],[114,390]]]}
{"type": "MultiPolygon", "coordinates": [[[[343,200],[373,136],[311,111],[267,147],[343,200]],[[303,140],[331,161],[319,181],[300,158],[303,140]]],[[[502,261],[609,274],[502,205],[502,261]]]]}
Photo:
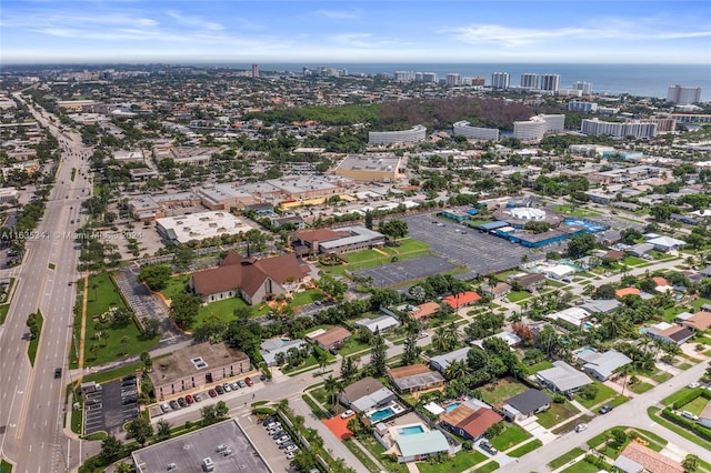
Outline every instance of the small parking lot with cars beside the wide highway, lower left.
{"type": "Polygon", "coordinates": [[[136,376],[103,383],[100,390],[86,393],[84,435],[106,431],[121,432],[124,423],[139,416],[136,376]]]}

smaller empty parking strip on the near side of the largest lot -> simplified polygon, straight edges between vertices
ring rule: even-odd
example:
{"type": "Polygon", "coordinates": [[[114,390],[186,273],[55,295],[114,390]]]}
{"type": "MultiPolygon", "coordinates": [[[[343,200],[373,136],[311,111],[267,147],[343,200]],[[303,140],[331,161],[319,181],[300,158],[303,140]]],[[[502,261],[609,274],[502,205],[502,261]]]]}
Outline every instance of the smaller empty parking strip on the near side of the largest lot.
{"type": "Polygon", "coordinates": [[[454,264],[441,258],[427,255],[356,271],[353,274],[359,278],[370,276],[374,286],[387,288],[455,269],[454,264]]]}

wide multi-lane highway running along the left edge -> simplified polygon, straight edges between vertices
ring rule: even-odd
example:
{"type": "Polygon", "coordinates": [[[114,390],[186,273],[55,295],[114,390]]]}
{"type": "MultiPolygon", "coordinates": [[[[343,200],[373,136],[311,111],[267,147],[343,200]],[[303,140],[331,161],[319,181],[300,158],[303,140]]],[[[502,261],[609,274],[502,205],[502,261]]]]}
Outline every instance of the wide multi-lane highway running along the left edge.
{"type": "MultiPolygon", "coordinates": [[[[24,101],[19,93],[14,94],[24,101]]],[[[79,278],[72,232],[83,219],[81,202],[91,194],[88,158],[81,137],[62,132],[32,105],[34,118],[58,139],[62,158],[44,217],[27,236],[21,266],[14,270],[14,295],[0,328],[0,457],[14,472],[61,472],[81,462],[79,442],[62,433],[66,368],[72,340],[74,282],[79,278]],[[34,366],[27,355],[28,314],[42,312],[44,323],[34,366]]]]}

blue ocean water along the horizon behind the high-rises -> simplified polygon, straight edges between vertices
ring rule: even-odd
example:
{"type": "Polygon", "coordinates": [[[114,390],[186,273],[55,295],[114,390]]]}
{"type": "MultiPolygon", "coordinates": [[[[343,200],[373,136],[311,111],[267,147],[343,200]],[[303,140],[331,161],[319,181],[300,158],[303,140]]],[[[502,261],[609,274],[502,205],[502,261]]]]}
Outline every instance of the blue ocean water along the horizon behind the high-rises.
{"type": "MultiPolygon", "coordinates": [[[[251,64],[230,64],[236,69],[251,69],[251,64]]],[[[487,85],[493,72],[508,72],[511,85],[519,85],[521,74],[560,74],[560,87],[568,89],[575,81],[592,83],[595,93],[630,93],[639,97],[667,98],[670,85],[700,87],[701,100],[711,100],[711,63],[709,64],[557,64],[557,63],[260,63],[262,71],[294,71],[321,67],[346,69],[349,73],[391,77],[395,71],[435,72],[443,79],[450,72],[461,77],[482,77],[487,85]]]]}

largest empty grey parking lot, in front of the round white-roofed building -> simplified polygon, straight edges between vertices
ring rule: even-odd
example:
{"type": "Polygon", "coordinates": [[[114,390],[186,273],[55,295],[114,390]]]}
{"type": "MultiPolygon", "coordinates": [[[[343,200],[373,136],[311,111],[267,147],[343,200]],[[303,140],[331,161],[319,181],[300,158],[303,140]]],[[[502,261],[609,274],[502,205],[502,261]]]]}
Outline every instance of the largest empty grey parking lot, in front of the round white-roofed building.
{"type": "Polygon", "coordinates": [[[409,215],[403,220],[408,223],[410,236],[429,243],[433,253],[469,268],[474,274],[510,270],[521,263],[523,255],[529,261],[543,258],[542,253],[532,253],[528,248],[438,218],[433,213],[409,215]]]}

